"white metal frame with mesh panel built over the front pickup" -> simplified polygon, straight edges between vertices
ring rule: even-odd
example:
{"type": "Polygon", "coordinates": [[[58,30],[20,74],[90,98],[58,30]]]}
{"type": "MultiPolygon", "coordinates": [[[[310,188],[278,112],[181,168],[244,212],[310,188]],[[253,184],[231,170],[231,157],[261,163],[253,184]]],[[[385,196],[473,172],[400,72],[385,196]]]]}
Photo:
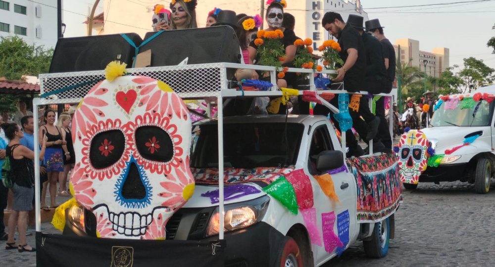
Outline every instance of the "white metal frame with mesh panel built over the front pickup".
{"type": "MultiPolygon", "coordinates": [[[[214,90],[207,90],[207,91],[198,91],[194,89],[179,89],[176,90],[176,93],[182,98],[182,99],[198,99],[202,97],[216,97],[217,98],[217,103],[219,103],[217,106],[218,111],[218,169],[219,169],[219,178],[218,178],[218,187],[219,187],[219,213],[220,213],[220,229],[219,229],[219,238],[224,239],[224,172],[220,170],[224,170],[224,162],[223,162],[223,98],[232,98],[232,97],[260,97],[260,96],[282,96],[282,91],[278,90],[277,88],[277,83],[276,83],[276,73],[277,69],[275,67],[269,67],[269,66],[257,66],[257,65],[246,65],[246,64],[235,64],[235,63],[210,63],[210,64],[197,64],[197,65],[187,65],[187,66],[168,66],[168,67],[149,67],[149,68],[133,68],[133,69],[128,69],[128,74],[130,75],[144,75],[144,74],[151,74],[151,75],[159,75],[163,74],[166,72],[171,72],[171,73],[180,73],[183,71],[198,71],[201,69],[217,69],[219,70],[219,75],[218,78],[220,86],[217,89],[214,90]],[[271,84],[273,87],[268,90],[268,91],[239,91],[239,90],[234,90],[234,89],[229,89],[228,88],[228,77],[227,77],[227,70],[228,69],[253,69],[253,70],[259,70],[259,71],[266,71],[270,72],[270,77],[271,77],[271,84]]],[[[315,85],[314,85],[314,76],[315,72],[311,69],[297,69],[297,68],[290,68],[289,72],[299,72],[299,73],[307,73],[309,75],[309,90],[315,91],[317,97],[321,100],[322,104],[329,108],[333,113],[339,113],[339,109],[330,103],[328,103],[326,100],[321,98],[319,94],[322,92],[332,92],[335,94],[339,93],[347,93],[346,90],[316,90],[315,85]]],[[[324,73],[324,74],[335,74],[335,71],[322,71],[319,73],[324,73]]],[[[104,79],[104,71],[87,71],[87,72],[72,72],[72,73],[54,73],[54,74],[42,74],[40,75],[40,88],[41,88],[41,94],[45,93],[50,93],[53,92],[56,89],[60,88],[54,88],[53,85],[50,85],[49,81],[50,79],[58,79],[58,80],[63,80],[63,79],[71,79],[71,78],[78,78],[77,80],[80,82],[88,82],[91,80],[94,80],[95,77],[101,78],[101,80],[104,79]]],[[[194,80],[194,77],[191,77],[191,79],[194,80]]],[[[58,81],[57,80],[57,81],[58,81]]],[[[157,79],[160,80],[160,79],[157,79]]],[[[165,81],[164,81],[165,82],[165,81]]],[[[77,83],[76,83],[77,84],[77,83]]],[[[95,82],[96,84],[96,82],[95,82]]],[[[74,86],[75,84],[65,84],[64,87],[68,86],[74,86]]],[[[93,87],[94,85],[88,85],[86,86],[89,90],[89,88],[93,87]]],[[[62,87],[62,88],[64,88],[62,87]]],[[[73,89],[76,91],[75,89],[73,89]]],[[[87,93],[87,91],[86,91],[87,93]]],[[[79,103],[84,95],[86,94],[84,91],[77,90],[77,93],[73,93],[72,95],[68,92],[63,92],[63,93],[58,93],[53,96],[47,96],[47,97],[40,97],[40,98],[35,98],[33,99],[33,117],[34,117],[34,129],[36,130],[35,133],[38,133],[39,131],[39,116],[38,116],[38,106],[40,105],[47,105],[47,104],[65,104],[65,103],[79,103]],[[59,97],[60,95],[63,95],[65,97],[59,97]],[[67,97],[69,95],[69,97],[67,97]]],[[[367,94],[365,91],[361,91],[361,94],[367,94]]],[[[299,95],[302,95],[302,91],[299,91],[299,95]]],[[[392,96],[391,94],[380,94],[382,96],[392,96]]],[[[208,104],[208,109],[209,109],[209,104],[208,104]]],[[[392,109],[392,105],[391,105],[392,109]]],[[[210,117],[210,113],[208,112],[208,116],[210,117]]],[[[391,122],[393,116],[390,116],[391,122]]],[[[390,127],[391,134],[392,134],[392,125],[390,127]]],[[[37,136],[37,135],[36,135],[37,136]]],[[[344,157],[346,155],[346,135],[341,134],[342,138],[342,149],[344,152],[344,157]]],[[[39,139],[34,138],[34,146],[39,147],[39,139]]],[[[370,152],[372,152],[372,142],[370,142],[370,152]]],[[[39,150],[35,149],[35,158],[39,158],[39,150]]],[[[36,211],[36,231],[41,231],[41,212],[40,212],[40,161],[35,160],[35,211],[36,211]]]]}

